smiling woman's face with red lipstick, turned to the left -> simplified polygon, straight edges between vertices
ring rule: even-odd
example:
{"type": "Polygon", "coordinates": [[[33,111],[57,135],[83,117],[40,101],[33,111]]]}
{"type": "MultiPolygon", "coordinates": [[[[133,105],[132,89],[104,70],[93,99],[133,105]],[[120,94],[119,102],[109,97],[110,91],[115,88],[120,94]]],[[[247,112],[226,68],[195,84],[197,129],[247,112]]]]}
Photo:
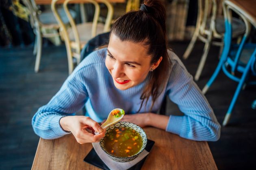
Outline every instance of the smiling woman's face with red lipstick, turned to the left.
{"type": "Polygon", "coordinates": [[[138,85],[145,80],[150,68],[158,66],[150,64],[151,56],[147,51],[141,43],[121,41],[111,34],[105,64],[117,89],[126,90],[138,85]]]}

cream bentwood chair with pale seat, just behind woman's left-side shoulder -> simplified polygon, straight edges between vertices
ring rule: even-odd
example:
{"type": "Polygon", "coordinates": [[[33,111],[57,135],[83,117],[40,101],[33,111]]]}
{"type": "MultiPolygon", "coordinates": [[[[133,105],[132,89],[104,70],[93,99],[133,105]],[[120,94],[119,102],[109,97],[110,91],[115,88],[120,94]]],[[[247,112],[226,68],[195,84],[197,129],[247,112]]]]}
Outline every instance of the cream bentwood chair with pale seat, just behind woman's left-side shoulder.
{"type": "Polygon", "coordinates": [[[113,6],[107,0],[80,0],[84,3],[93,4],[93,6],[95,7],[95,13],[92,22],[76,24],[68,8],[68,4],[76,3],[76,0],[65,0],[63,3],[63,8],[71,25],[71,28],[66,28],[58,11],[56,11],[56,3],[58,1],[59,0],[52,0],[51,7],[54,16],[56,17],[56,20],[59,23],[59,26],[61,28],[61,34],[63,35],[65,41],[65,46],[67,50],[68,70],[69,74],[71,74],[74,70],[73,61],[76,62],[76,64],[80,63],[81,49],[85,46],[88,40],[100,33],[108,32],[110,30],[111,20],[113,17],[113,6]],[[98,22],[100,15],[100,6],[98,2],[104,3],[108,8],[105,23],[98,22]]]}

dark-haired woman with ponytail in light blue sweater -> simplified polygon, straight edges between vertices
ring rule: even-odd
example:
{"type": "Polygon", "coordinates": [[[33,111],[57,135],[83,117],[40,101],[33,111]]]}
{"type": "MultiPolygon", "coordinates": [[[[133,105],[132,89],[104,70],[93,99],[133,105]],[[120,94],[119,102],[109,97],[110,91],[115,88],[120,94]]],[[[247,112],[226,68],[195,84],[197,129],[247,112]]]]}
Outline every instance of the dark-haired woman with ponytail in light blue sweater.
{"type": "Polygon", "coordinates": [[[191,140],[218,140],[220,125],[212,108],[180,59],[167,49],[165,18],[165,8],[157,0],[145,0],[139,11],[119,17],[108,47],[87,56],[50,102],[39,108],[32,120],[35,133],[46,139],[72,133],[81,144],[98,142],[105,130],[97,122],[122,108],[122,121],[191,140]],[[184,116],[154,114],[165,96],[184,116]],[[87,114],[75,116],[84,106],[87,114]]]}

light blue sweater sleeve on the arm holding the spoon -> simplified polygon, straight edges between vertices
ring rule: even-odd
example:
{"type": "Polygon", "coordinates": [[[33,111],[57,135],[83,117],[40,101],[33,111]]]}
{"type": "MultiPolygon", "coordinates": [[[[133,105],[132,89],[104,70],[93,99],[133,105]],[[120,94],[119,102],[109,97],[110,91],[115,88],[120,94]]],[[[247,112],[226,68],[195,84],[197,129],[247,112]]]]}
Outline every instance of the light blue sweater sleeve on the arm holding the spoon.
{"type": "Polygon", "coordinates": [[[87,90],[78,74],[71,74],[61,89],[48,104],[39,108],[33,116],[32,126],[35,133],[45,139],[54,139],[69,134],[62,129],[61,117],[75,115],[88,98],[87,90]]]}

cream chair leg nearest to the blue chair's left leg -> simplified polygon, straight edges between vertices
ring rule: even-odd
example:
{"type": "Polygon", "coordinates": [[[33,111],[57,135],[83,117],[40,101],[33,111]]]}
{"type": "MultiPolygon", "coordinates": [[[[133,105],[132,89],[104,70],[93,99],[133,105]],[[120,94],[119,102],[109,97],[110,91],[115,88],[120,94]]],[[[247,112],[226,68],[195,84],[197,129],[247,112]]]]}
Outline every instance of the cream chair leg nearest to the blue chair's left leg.
{"type": "Polygon", "coordinates": [[[195,81],[198,81],[198,79],[199,79],[199,77],[200,77],[200,75],[202,73],[202,70],[204,68],[204,64],[205,64],[205,61],[206,61],[206,58],[207,58],[207,55],[208,55],[208,52],[209,52],[209,49],[210,49],[211,39],[212,39],[212,34],[210,33],[208,35],[207,41],[205,42],[204,52],[203,52],[203,55],[201,57],[199,66],[197,68],[197,71],[195,73],[195,81]]]}

